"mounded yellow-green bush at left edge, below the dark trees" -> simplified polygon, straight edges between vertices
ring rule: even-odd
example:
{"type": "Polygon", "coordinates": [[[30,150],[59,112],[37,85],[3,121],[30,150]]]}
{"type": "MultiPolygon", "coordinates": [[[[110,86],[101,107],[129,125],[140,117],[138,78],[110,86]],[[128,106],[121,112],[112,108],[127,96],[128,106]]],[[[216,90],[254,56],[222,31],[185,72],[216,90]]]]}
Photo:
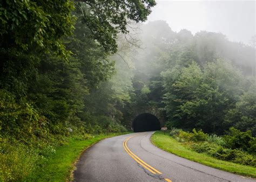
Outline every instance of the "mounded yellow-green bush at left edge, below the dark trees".
{"type": "Polygon", "coordinates": [[[17,103],[15,96],[3,89],[0,89],[0,124],[2,135],[15,137],[27,144],[49,134],[45,117],[31,104],[22,100],[17,103]]]}

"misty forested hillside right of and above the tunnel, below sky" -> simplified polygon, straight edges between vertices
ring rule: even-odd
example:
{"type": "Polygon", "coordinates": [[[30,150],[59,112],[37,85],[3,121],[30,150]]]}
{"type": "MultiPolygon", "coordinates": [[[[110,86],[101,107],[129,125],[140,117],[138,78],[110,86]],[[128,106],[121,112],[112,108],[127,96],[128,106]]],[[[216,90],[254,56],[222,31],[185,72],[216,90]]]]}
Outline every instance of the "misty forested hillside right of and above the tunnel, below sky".
{"type": "Polygon", "coordinates": [[[140,30],[135,108],[158,109],[169,127],[224,134],[234,126],[256,134],[253,44],[233,43],[221,33],[173,32],[163,21],[140,30]]]}

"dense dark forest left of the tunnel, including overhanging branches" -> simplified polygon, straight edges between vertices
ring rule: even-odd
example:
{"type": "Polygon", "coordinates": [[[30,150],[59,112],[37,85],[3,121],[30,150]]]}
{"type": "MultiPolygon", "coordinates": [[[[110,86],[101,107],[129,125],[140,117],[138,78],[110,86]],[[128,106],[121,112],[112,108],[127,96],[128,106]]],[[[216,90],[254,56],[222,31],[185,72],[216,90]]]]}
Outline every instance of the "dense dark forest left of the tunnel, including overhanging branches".
{"type": "Polygon", "coordinates": [[[1,3],[2,135],[30,143],[73,129],[125,130],[118,108],[129,100],[130,80],[119,78],[125,64],[111,55],[127,20],[143,22],[154,4],[1,3]]]}

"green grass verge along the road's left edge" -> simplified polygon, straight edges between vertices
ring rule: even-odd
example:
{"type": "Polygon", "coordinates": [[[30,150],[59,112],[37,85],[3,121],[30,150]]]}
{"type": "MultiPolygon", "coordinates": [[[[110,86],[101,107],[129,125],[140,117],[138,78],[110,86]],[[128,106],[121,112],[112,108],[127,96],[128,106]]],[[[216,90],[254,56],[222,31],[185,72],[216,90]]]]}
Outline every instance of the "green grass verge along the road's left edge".
{"type": "Polygon", "coordinates": [[[71,173],[83,151],[102,139],[124,134],[129,132],[99,135],[84,140],[70,138],[68,144],[59,146],[55,155],[47,159],[26,181],[71,181],[71,173]]]}

